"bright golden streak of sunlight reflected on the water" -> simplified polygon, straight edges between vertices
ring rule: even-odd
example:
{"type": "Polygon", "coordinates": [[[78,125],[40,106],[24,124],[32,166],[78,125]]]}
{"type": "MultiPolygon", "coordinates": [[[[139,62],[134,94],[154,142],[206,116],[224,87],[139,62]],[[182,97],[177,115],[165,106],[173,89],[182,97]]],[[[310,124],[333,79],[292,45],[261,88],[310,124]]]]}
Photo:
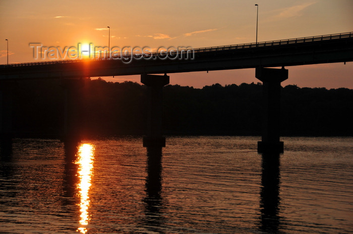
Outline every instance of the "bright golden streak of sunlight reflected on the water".
{"type": "Polygon", "coordinates": [[[94,146],[92,144],[81,144],[78,151],[78,158],[75,162],[79,165],[77,176],[80,179],[77,188],[79,190],[80,203],[80,227],[77,231],[86,233],[90,215],[88,213],[89,207],[89,188],[91,186],[91,176],[93,173],[93,160],[94,160],[94,146]]]}

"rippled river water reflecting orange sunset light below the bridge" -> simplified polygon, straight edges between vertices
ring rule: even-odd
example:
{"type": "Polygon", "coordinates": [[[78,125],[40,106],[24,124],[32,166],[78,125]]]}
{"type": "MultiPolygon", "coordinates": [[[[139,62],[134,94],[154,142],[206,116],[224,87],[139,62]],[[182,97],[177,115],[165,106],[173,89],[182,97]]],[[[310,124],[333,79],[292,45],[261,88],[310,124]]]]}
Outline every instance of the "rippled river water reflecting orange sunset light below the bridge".
{"type": "Polygon", "coordinates": [[[0,233],[350,233],[353,137],[16,139],[0,163],[0,233]]]}

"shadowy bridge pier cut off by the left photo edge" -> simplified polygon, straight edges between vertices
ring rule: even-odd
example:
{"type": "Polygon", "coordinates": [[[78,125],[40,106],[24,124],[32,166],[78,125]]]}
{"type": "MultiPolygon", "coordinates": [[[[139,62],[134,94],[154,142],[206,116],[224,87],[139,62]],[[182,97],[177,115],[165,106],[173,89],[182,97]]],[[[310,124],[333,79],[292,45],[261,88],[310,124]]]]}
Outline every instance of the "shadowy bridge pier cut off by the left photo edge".
{"type": "Polygon", "coordinates": [[[11,153],[12,149],[13,97],[17,86],[15,81],[0,82],[0,147],[2,154],[11,153]]]}

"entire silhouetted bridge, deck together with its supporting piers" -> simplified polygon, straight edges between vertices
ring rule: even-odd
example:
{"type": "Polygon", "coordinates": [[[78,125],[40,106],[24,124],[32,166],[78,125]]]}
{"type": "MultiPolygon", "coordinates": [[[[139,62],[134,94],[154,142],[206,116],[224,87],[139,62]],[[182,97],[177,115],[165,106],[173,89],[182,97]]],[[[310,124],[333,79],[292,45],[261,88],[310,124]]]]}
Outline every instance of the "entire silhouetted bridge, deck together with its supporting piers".
{"type": "Polygon", "coordinates": [[[150,111],[144,146],[165,146],[161,131],[162,88],[169,84],[167,73],[256,68],[263,82],[263,133],[258,151],[283,151],[279,141],[280,83],[288,78],[285,66],[353,61],[353,32],[313,37],[205,47],[173,52],[118,55],[108,58],[70,59],[0,65],[2,92],[2,141],[11,138],[11,90],[16,81],[62,79],[66,90],[65,135],[74,134],[75,90],[84,77],[141,75],[149,88],[150,111]],[[179,57],[178,57],[179,56],[179,57]],[[271,67],[282,67],[271,68],[271,67]],[[154,75],[152,75],[154,74],[154,75]],[[164,74],[164,75],[156,75],[164,74]]]}

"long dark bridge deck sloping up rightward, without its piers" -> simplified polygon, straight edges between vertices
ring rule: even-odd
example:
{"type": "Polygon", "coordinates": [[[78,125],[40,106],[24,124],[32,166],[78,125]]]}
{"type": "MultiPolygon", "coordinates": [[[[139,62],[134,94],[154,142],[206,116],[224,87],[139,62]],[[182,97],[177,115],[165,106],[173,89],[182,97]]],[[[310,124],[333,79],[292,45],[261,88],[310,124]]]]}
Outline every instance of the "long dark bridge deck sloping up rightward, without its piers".
{"type": "Polygon", "coordinates": [[[165,59],[165,56],[170,54],[146,53],[129,54],[123,58],[113,56],[13,63],[0,65],[0,80],[175,73],[348,62],[353,61],[353,32],[205,47],[182,53],[183,56],[189,53],[192,59],[165,59]],[[127,63],[123,62],[123,59],[132,61],[127,63]]]}

